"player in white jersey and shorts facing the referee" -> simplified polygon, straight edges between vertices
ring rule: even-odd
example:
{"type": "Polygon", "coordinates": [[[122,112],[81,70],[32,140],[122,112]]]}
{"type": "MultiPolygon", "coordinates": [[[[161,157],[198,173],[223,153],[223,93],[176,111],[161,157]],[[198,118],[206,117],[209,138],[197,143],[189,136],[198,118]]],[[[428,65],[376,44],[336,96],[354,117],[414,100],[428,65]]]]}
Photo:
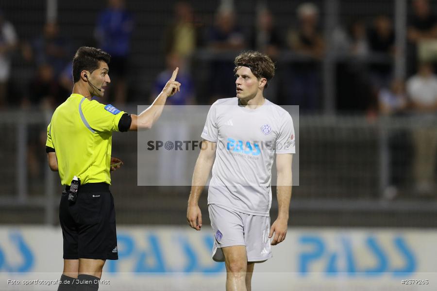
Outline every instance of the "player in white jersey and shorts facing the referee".
{"type": "Polygon", "coordinates": [[[263,97],[274,70],[269,56],[260,52],[247,51],[235,58],[236,97],[211,106],[202,132],[206,146],[202,145],[194,168],[187,221],[201,230],[198,201],[212,167],[208,189],[215,237],[212,258],[225,262],[228,291],[250,291],[254,263],[271,258],[270,244],[286,238],[295,137],[290,114],[263,97]],[[270,227],[275,154],[279,214],[270,227]]]}

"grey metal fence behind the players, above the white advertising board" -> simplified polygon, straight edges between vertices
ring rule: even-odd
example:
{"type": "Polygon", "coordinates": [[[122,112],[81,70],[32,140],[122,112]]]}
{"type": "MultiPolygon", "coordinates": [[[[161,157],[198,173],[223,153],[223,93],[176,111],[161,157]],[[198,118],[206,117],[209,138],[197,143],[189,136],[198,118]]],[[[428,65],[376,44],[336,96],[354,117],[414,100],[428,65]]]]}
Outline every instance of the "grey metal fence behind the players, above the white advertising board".
{"type": "MultiPolygon", "coordinates": [[[[130,109],[127,111],[135,111],[130,109]]],[[[51,112],[38,110],[0,114],[2,223],[57,222],[62,187],[57,173],[47,165],[44,150],[50,117],[51,112]]],[[[291,213],[302,213],[305,224],[329,225],[330,221],[336,224],[330,220],[332,214],[353,217],[378,211],[385,217],[393,213],[404,217],[408,225],[405,214],[414,212],[417,225],[429,225],[427,215],[437,210],[436,189],[431,195],[419,195],[413,173],[418,157],[413,132],[424,127],[435,131],[437,122],[414,116],[372,120],[364,116],[301,116],[300,185],[293,188],[291,213]],[[311,222],[308,218],[322,212],[323,220],[311,222]]],[[[189,187],[137,186],[136,139],[135,132],[113,136],[113,155],[124,161],[122,169],[112,175],[118,222],[184,224],[189,187]]],[[[435,169],[433,165],[433,181],[435,169]]],[[[206,193],[200,203],[206,209],[206,193]]],[[[274,202],[273,213],[275,210],[274,202]]],[[[298,221],[295,223],[300,224],[298,221]]],[[[378,221],[385,225],[384,220],[378,221]]]]}

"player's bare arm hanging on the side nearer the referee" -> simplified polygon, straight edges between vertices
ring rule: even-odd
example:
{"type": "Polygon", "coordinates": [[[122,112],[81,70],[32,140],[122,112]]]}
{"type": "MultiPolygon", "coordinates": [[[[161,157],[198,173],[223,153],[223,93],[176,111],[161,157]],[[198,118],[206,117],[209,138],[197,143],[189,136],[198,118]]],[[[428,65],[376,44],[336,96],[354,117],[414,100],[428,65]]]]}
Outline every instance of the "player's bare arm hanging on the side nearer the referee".
{"type": "Polygon", "coordinates": [[[206,146],[201,146],[201,151],[194,167],[188,208],[186,210],[186,220],[196,230],[200,230],[202,227],[202,212],[199,208],[199,198],[211,172],[217,146],[217,143],[205,140],[202,143],[205,143],[206,146]]]}

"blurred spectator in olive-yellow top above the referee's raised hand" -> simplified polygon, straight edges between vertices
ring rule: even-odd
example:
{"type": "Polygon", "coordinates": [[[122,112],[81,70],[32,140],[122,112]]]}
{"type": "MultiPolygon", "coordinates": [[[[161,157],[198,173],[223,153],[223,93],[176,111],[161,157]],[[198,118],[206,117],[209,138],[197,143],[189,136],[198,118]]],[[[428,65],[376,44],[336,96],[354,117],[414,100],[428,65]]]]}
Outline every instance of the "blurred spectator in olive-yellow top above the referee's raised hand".
{"type": "Polygon", "coordinates": [[[182,58],[190,57],[200,43],[193,8],[188,2],[180,1],[175,5],[174,14],[175,21],[165,34],[165,53],[175,53],[182,58]]]}

